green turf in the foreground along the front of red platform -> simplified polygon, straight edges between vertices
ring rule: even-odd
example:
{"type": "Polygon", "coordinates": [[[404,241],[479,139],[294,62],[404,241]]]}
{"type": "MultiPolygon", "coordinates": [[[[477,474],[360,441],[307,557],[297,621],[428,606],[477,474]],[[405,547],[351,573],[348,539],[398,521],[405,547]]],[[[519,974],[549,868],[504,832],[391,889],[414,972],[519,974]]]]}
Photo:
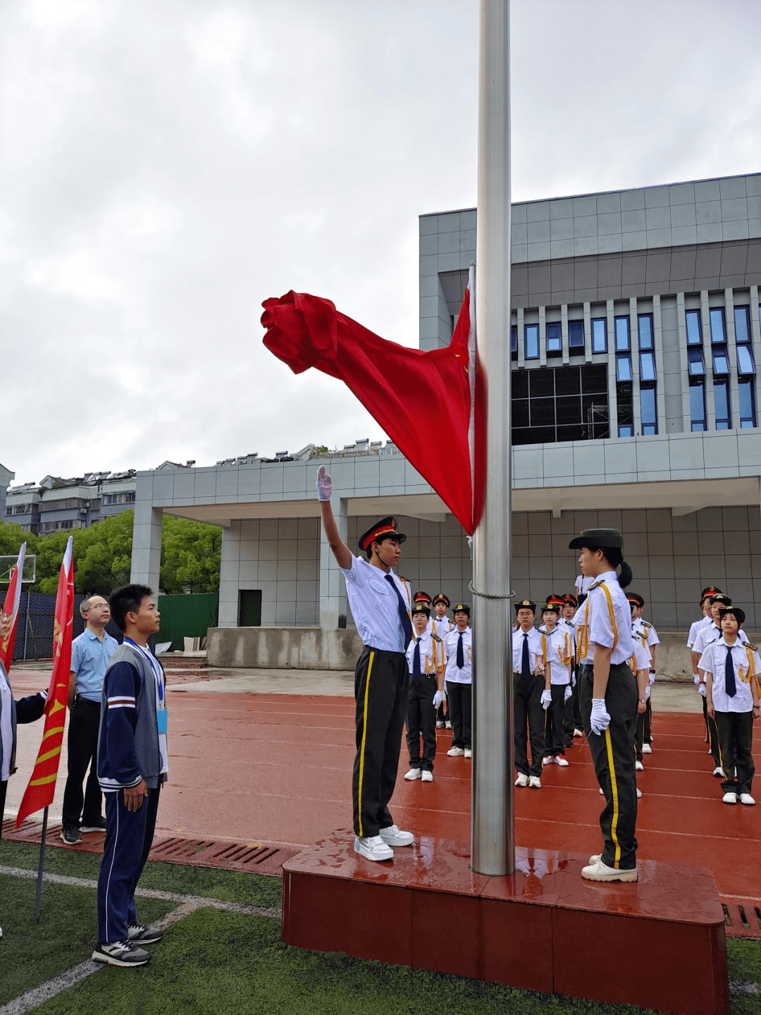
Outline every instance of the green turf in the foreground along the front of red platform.
{"type": "Polygon", "coordinates": [[[475,979],[301,951],[277,921],[201,909],[176,924],[153,959],[107,967],[36,1011],[41,1015],[609,1015],[642,1009],[533,994],[475,979]]]}

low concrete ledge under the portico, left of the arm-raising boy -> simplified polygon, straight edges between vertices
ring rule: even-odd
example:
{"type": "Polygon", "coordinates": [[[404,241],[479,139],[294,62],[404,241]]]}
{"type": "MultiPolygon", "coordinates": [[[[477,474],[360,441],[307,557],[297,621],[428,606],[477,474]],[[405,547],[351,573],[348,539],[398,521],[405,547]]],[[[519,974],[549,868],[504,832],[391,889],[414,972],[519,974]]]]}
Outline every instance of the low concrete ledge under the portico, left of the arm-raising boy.
{"type": "Polygon", "coordinates": [[[353,627],[210,627],[206,641],[209,666],[270,670],[353,670],[361,651],[353,627]]]}

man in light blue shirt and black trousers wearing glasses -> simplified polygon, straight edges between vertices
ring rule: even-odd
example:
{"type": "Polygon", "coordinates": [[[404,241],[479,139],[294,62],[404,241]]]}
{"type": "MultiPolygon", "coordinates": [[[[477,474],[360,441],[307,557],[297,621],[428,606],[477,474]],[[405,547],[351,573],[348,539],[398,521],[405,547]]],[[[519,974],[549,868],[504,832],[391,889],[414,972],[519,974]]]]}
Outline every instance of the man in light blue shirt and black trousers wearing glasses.
{"type": "Polygon", "coordinates": [[[119,642],[106,627],[111,610],[102,596],[83,599],[79,612],[84,631],[71,642],[69,682],[69,775],[63,802],[61,838],[67,845],[82,841],[82,832],[106,831],[100,815],[100,787],[97,782],[97,733],[100,728],[100,692],[109,660],[119,642]],[[82,783],[89,766],[87,786],[82,783]]]}

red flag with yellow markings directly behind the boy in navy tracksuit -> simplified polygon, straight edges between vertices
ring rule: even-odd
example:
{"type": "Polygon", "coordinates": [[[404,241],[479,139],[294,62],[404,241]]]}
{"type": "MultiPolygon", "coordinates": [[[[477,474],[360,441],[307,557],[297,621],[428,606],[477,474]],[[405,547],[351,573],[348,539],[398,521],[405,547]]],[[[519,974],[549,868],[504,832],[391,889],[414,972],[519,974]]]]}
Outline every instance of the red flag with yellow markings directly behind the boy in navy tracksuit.
{"type": "Polygon", "coordinates": [[[74,621],[74,564],[71,559],[71,536],[66,543],[66,553],[58,577],[56,596],[56,624],[53,633],[53,674],[48,700],[45,704],[45,732],[40,753],[29,785],[23,794],[16,816],[16,828],[29,814],[53,803],[61,758],[64,727],[66,725],[66,698],[71,672],[71,633],[74,621]]]}

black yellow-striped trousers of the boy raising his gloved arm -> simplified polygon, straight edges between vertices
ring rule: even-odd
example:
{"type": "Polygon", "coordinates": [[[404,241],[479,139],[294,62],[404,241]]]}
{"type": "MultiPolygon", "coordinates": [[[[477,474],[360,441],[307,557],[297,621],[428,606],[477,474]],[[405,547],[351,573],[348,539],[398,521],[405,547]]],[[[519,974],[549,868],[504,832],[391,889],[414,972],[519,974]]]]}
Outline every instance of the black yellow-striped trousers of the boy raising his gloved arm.
{"type": "Polygon", "coordinates": [[[357,753],[352,797],[354,833],[377,835],[394,824],[389,801],[397,783],[410,673],[403,652],[364,647],[354,671],[357,753]]]}

